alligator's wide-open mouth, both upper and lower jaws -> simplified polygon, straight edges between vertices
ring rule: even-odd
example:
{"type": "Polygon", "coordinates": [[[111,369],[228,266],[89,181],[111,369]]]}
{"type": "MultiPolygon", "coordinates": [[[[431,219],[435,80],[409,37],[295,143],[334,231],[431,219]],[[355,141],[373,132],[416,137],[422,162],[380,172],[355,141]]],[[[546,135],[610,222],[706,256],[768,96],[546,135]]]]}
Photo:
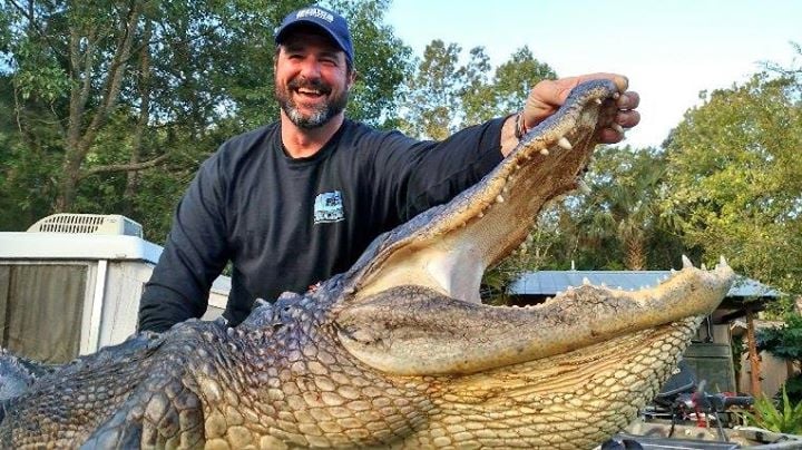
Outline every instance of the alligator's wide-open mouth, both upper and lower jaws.
{"type": "Polygon", "coordinates": [[[569,352],[710,313],[732,271],[693,267],[652,290],[579,286],[530,307],[482,305],[485,270],[518,247],[542,206],[576,188],[618,90],[580,85],[489,175],[365,252],[351,271],[340,340],[358,359],[403,375],[473,373],[569,352]]]}

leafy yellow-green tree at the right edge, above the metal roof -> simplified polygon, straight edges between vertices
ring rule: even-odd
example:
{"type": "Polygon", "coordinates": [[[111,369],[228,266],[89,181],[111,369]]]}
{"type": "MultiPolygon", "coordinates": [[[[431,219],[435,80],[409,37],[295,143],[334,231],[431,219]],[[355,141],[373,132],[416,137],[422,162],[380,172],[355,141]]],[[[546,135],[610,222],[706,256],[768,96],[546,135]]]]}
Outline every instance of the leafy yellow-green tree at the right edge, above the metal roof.
{"type": "Polygon", "coordinates": [[[789,293],[802,275],[801,96],[767,74],[703,94],[666,148],[663,207],[686,244],[789,293]]]}

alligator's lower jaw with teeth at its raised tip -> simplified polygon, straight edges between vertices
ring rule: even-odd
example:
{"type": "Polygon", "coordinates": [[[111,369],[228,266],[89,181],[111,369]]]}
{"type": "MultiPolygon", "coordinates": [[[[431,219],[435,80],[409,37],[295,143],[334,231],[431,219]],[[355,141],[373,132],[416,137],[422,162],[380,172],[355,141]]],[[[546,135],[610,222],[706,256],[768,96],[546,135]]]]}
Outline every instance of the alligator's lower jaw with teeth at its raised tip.
{"type": "Polygon", "coordinates": [[[708,314],[733,277],[722,258],[713,271],[686,267],[653,288],[588,284],[527,307],[477,305],[401,286],[344,309],[338,317],[340,341],[388,373],[475,373],[708,314]]]}

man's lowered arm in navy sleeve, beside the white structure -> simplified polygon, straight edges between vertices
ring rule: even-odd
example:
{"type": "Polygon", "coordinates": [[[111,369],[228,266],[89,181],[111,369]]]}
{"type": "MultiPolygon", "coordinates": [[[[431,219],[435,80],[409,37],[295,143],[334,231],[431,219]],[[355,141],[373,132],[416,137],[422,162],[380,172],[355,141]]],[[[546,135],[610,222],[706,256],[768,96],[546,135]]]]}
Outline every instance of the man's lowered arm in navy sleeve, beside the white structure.
{"type": "Polygon", "coordinates": [[[163,332],[200,317],[212,282],[228,260],[218,158],[198,170],[182,198],[173,227],[139,302],[139,331],[163,332]]]}

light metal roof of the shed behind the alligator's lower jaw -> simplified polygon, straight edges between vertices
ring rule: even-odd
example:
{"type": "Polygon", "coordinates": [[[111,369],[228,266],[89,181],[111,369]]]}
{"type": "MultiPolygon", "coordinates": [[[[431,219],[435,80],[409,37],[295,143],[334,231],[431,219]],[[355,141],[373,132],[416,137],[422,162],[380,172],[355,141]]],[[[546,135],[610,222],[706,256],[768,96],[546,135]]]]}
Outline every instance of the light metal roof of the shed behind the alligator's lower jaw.
{"type": "MultiPolygon", "coordinates": [[[[512,295],[555,295],[568,286],[580,286],[587,278],[591,284],[625,291],[657,285],[671,271],[538,271],[527,272],[509,287],[512,295]]],[[[727,297],[779,297],[780,292],[745,276],[737,276],[727,297]]]]}

